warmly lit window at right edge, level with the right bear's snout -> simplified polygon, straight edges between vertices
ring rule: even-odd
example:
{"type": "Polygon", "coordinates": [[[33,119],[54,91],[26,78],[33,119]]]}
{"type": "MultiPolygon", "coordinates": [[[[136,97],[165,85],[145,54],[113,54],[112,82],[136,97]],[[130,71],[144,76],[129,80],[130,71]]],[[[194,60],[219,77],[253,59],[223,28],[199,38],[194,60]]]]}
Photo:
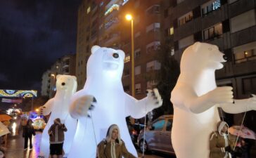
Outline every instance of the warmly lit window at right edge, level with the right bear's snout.
{"type": "Polygon", "coordinates": [[[235,63],[256,60],[256,41],[233,48],[235,63]]]}

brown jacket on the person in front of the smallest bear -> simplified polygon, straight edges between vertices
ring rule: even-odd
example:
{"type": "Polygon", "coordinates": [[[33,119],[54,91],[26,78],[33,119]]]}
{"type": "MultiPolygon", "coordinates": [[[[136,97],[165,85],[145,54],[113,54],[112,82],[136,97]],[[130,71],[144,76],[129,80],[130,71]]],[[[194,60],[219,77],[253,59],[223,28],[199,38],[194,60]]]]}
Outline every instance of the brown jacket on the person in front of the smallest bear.
{"type": "Polygon", "coordinates": [[[68,131],[65,124],[53,124],[48,130],[51,144],[59,144],[64,142],[64,131],[68,131]]]}

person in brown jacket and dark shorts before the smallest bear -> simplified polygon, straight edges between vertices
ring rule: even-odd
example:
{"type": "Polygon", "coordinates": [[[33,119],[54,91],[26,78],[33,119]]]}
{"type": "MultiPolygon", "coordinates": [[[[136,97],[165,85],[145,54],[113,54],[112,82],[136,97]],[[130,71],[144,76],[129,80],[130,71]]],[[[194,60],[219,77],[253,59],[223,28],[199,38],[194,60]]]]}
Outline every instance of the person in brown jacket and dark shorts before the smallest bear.
{"type": "Polygon", "coordinates": [[[65,124],[60,123],[60,119],[54,120],[54,124],[51,125],[48,130],[50,136],[50,154],[51,158],[62,158],[63,157],[63,142],[64,132],[68,131],[65,124]]]}

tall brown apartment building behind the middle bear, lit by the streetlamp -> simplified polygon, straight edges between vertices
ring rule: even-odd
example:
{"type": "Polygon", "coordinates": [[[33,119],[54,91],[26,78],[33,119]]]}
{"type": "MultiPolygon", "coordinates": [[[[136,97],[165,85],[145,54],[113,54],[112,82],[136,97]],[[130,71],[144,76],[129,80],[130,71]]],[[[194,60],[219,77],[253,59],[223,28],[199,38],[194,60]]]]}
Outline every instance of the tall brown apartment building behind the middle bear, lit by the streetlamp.
{"type": "Polygon", "coordinates": [[[97,2],[83,1],[79,6],[77,27],[78,87],[81,89],[86,80],[86,63],[91,53],[90,48],[98,44],[124,51],[126,56],[122,82],[124,91],[132,93],[132,28],[131,22],[125,20],[125,14],[130,13],[134,20],[135,96],[136,98],[143,98],[146,96],[146,88],[151,88],[157,84],[155,72],[160,70],[160,63],[155,59],[160,46],[160,0],[97,2]],[[88,8],[93,11],[88,11],[88,8]],[[91,34],[95,35],[91,37],[91,34]]]}

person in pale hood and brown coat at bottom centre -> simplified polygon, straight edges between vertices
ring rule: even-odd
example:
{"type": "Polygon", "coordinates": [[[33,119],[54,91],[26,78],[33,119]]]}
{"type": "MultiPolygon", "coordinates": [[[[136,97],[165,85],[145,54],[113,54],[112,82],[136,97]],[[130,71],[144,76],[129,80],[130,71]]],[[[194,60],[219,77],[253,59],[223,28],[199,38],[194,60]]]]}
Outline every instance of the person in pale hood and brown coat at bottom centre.
{"type": "Polygon", "coordinates": [[[98,144],[97,150],[97,158],[136,158],[127,151],[116,124],[108,128],[107,136],[98,144]]]}

